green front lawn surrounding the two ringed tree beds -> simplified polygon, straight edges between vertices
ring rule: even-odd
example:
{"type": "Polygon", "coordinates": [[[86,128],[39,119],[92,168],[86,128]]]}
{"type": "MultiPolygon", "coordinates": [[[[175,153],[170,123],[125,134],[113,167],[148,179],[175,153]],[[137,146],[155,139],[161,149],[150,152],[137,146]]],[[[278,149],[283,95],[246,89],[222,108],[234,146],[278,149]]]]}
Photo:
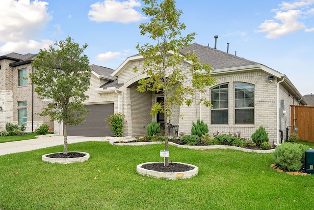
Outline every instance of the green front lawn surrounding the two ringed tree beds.
{"type": "MultiPolygon", "coordinates": [[[[312,144],[313,146],[313,144],[312,144]]],[[[272,154],[189,150],[169,146],[172,161],[199,167],[196,177],[161,180],[136,165],[162,161],[164,145],[69,145],[90,159],[68,165],[43,162],[62,146],[0,156],[1,210],[264,210],[313,209],[314,176],[274,171],[272,154]]]]}

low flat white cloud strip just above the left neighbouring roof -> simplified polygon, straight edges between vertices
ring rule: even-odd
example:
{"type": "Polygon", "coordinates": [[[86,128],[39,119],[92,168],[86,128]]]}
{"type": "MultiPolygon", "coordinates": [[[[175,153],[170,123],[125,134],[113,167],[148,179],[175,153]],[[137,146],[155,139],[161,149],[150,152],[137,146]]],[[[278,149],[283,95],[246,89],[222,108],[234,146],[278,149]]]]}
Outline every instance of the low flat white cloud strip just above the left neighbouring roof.
{"type": "Polygon", "coordinates": [[[29,53],[29,51],[37,51],[39,53],[39,49],[48,49],[53,42],[51,40],[41,40],[41,42],[37,42],[34,40],[29,41],[19,41],[19,42],[6,42],[5,44],[0,46],[0,52],[2,54],[7,54],[11,52],[18,52],[21,54],[29,53]]]}

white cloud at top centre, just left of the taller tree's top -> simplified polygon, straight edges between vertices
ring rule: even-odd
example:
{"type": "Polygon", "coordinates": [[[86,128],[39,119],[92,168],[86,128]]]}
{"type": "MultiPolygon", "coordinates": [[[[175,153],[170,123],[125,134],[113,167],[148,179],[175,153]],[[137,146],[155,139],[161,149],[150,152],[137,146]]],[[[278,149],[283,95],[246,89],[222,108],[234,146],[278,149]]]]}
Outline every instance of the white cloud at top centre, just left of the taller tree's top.
{"type": "Polygon", "coordinates": [[[133,7],[140,5],[141,4],[136,0],[122,2],[117,0],[104,0],[103,2],[90,5],[92,9],[89,10],[88,16],[90,20],[96,22],[138,22],[146,19],[145,16],[133,9],[133,7]]]}

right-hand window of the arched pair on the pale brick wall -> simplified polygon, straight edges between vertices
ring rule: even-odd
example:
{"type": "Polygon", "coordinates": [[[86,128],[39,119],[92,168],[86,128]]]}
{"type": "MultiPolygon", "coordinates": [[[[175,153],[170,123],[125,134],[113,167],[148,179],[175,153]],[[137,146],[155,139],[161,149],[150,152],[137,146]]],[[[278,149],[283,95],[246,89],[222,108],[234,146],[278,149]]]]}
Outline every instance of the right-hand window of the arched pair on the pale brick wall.
{"type": "Polygon", "coordinates": [[[235,83],[235,124],[254,124],[254,86],[235,83]]]}

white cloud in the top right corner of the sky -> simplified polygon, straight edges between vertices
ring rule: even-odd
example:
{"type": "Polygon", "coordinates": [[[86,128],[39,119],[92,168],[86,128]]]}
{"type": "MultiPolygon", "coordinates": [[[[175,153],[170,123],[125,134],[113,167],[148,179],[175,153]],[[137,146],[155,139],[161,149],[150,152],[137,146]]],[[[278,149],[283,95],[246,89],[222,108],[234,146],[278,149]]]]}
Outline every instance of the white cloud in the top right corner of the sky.
{"type": "Polygon", "coordinates": [[[267,32],[266,38],[278,38],[298,30],[312,31],[307,29],[304,22],[300,21],[314,14],[314,8],[309,7],[311,4],[314,4],[314,0],[295,1],[293,3],[283,2],[279,5],[279,9],[272,10],[276,12],[274,19],[265,20],[259,26],[261,30],[256,32],[267,32]]]}

